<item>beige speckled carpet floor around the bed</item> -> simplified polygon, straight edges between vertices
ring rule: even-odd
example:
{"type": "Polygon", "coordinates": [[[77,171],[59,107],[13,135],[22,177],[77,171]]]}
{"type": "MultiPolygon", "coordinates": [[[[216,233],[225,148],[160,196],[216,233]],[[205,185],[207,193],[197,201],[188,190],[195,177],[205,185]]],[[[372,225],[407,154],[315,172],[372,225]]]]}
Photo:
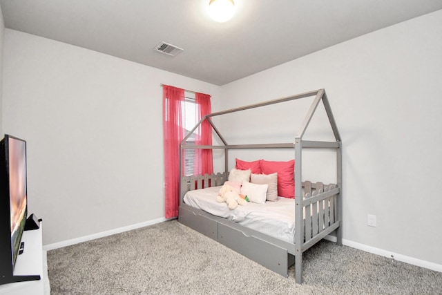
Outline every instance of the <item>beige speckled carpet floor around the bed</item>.
{"type": "MultiPolygon", "coordinates": [[[[251,245],[253,247],[253,245],[251,245]]],[[[177,220],[48,251],[51,294],[442,294],[442,273],[323,240],[302,285],[177,220]]]]}

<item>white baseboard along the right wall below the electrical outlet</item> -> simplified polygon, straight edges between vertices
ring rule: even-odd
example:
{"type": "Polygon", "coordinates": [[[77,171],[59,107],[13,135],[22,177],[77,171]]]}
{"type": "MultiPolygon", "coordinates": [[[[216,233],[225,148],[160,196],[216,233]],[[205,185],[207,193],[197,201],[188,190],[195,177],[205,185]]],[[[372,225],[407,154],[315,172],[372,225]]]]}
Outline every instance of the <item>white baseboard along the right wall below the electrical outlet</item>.
{"type": "MultiPolygon", "coordinates": [[[[332,242],[336,242],[336,236],[326,236],[325,240],[329,240],[332,242]]],[[[371,247],[371,246],[367,246],[367,245],[363,245],[360,244],[358,242],[353,242],[352,240],[345,240],[343,239],[343,245],[348,246],[348,247],[352,247],[355,249],[359,249],[362,251],[366,251],[372,254],[376,254],[379,256],[384,256],[387,258],[394,258],[394,260],[398,260],[401,261],[403,263],[408,263],[410,265],[416,265],[419,267],[424,267],[426,269],[431,269],[434,270],[436,272],[442,272],[442,265],[438,265],[436,263],[430,263],[429,261],[425,261],[425,260],[421,260],[421,259],[417,259],[417,258],[412,258],[410,256],[405,256],[402,254],[397,254],[394,253],[392,251],[387,251],[384,249],[379,249],[379,248],[375,248],[375,247],[371,247]]]]}

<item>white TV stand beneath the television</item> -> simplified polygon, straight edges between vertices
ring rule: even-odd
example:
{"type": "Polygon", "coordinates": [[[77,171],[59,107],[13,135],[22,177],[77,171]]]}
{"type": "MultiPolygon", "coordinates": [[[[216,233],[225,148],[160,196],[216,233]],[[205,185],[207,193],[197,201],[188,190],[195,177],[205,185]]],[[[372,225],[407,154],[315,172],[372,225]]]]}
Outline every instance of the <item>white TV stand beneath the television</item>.
{"type": "Polygon", "coordinates": [[[0,294],[50,294],[48,264],[46,251],[43,251],[42,233],[42,222],[39,222],[39,229],[23,231],[21,242],[25,243],[24,251],[23,254],[17,256],[14,268],[15,276],[39,275],[40,279],[0,285],[0,294]]]}

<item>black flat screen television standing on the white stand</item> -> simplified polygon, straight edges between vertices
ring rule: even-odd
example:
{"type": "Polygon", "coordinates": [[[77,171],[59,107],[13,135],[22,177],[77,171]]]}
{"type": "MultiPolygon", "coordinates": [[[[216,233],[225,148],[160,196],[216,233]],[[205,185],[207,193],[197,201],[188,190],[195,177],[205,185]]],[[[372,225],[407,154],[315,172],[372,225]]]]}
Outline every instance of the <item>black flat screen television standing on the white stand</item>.
{"type": "Polygon", "coordinates": [[[26,141],[5,135],[0,142],[0,285],[39,279],[14,276],[27,216],[26,141]]]}

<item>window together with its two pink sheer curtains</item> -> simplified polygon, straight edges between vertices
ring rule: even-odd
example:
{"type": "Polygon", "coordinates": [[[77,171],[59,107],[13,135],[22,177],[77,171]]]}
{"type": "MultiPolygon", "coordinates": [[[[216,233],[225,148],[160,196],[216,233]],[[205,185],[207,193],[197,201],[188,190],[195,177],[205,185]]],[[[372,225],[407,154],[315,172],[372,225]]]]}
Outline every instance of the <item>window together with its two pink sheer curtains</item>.
{"type": "MultiPolygon", "coordinates": [[[[187,163],[180,171],[177,163],[179,144],[183,135],[198,123],[198,117],[211,113],[210,95],[193,93],[186,95],[184,89],[169,85],[163,87],[163,132],[164,132],[164,209],[166,218],[178,216],[180,206],[180,175],[213,173],[213,156],[211,149],[196,150],[184,153],[183,162],[187,163]],[[187,99],[186,99],[187,98],[187,99]],[[201,115],[200,115],[201,113],[201,115]],[[193,158],[193,159],[192,159],[193,158]],[[187,160],[186,160],[187,159],[187,160]],[[195,162],[194,162],[195,161],[195,162]]],[[[190,91],[189,91],[190,92],[190,91]]],[[[211,145],[211,126],[202,124],[201,131],[189,138],[189,143],[211,145]],[[200,133],[201,132],[201,133],[200,133]]]]}

